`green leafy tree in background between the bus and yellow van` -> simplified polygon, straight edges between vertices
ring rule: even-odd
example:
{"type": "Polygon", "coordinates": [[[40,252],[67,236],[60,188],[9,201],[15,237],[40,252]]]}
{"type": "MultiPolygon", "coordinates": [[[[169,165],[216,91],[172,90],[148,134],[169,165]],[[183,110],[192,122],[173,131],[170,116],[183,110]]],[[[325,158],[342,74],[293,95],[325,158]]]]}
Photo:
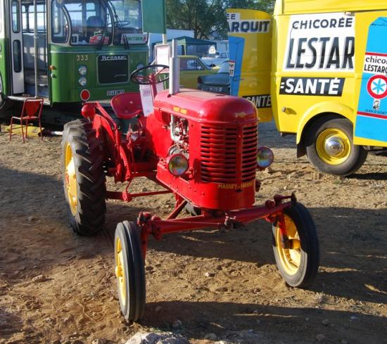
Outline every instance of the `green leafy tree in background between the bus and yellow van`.
{"type": "Polygon", "coordinates": [[[167,0],[167,26],[193,30],[194,37],[227,37],[226,8],[253,8],[272,13],[275,0],[167,0]]]}

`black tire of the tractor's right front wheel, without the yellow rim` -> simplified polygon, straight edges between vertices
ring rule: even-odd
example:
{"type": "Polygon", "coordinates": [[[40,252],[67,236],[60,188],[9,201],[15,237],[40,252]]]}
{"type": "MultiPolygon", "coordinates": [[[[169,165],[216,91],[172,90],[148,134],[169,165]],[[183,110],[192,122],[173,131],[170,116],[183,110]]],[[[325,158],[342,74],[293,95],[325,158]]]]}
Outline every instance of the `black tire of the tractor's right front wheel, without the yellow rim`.
{"type": "Polygon", "coordinates": [[[312,283],[319,269],[319,240],[317,238],[317,231],[310,212],[301,203],[296,203],[291,208],[286,208],[285,215],[291,217],[300,237],[300,266],[295,274],[285,272],[276,246],[277,223],[274,223],[272,227],[274,257],[279,273],[286,281],[286,284],[292,287],[303,288],[312,283]]]}

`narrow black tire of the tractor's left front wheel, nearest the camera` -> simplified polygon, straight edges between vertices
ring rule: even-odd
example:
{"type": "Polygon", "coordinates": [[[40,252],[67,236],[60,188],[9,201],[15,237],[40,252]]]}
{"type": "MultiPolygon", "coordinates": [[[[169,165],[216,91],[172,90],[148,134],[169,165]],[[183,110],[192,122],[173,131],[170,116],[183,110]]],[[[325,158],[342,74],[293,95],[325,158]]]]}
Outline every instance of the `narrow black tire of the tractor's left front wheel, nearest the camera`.
{"type": "MultiPolygon", "coordinates": [[[[117,266],[119,238],[124,257],[122,265],[126,286],[126,301],[122,300],[120,291],[118,291],[118,300],[120,302],[121,313],[127,321],[138,321],[144,317],[146,288],[140,233],[139,226],[134,222],[128,221],[120,222],[115,229],[115,265],[117,266]]],[[[120,288],[118,279],[117,288],[120,288]]]]}

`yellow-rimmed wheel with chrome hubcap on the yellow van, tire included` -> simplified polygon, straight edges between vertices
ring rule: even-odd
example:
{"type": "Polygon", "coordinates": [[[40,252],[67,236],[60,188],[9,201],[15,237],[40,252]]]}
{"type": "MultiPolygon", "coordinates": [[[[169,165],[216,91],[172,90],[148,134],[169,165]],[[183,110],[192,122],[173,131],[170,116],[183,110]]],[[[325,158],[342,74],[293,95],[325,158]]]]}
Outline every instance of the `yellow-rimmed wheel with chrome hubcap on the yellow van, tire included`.
{"type": "Polygon", "coordinates": [[[359,170],[368,154],[353,144],[353,125],[345,118],[317,120],[306,134],[305,146],[307,158],[317,170],[336,176],[359,170]]]}

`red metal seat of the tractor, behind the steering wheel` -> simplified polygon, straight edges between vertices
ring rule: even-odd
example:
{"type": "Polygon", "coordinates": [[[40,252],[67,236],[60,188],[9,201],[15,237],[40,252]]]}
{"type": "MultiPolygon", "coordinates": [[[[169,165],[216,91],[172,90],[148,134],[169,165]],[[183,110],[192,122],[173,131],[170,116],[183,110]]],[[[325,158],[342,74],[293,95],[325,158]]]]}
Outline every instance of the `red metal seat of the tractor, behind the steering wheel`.
{"type": "Polygon", "coordinates": [[[118,94],[112,98],[110,104],[120,120],[130,120],[142,113],[141,96],[136,92],[118,94]]]}

